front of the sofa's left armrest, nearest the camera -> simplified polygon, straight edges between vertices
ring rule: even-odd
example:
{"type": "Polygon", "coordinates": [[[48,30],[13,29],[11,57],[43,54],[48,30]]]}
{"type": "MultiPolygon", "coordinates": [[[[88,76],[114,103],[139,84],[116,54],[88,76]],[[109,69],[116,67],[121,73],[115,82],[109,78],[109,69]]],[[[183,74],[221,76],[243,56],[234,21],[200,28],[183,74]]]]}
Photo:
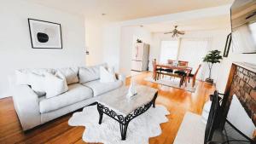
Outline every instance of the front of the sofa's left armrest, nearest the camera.
{"type": "Polygon", "coordinates": [[[23,130],[41,124],[38,95],[28,85],[13,85],[15,110],[23,130]]]}

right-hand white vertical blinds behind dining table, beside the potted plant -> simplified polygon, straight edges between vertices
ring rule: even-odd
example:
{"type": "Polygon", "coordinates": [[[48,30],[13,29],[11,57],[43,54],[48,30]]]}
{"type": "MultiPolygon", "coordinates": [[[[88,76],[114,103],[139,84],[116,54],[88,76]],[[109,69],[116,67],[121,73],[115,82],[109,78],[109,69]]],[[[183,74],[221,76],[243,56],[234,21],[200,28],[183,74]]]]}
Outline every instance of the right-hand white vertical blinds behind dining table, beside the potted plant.
{"type": "MultiPolygon", "coordinates": [[[[189,66],[193,68],[192,73],[202,64],[202,58],[207,55],[208,39],[207,38],[182,38],[178,52],[178,60],[189,61],[189,66]]],[[[203,79],[205,67],[202,65],[201,70],[197,73],[197,79],[203,79]]]]}

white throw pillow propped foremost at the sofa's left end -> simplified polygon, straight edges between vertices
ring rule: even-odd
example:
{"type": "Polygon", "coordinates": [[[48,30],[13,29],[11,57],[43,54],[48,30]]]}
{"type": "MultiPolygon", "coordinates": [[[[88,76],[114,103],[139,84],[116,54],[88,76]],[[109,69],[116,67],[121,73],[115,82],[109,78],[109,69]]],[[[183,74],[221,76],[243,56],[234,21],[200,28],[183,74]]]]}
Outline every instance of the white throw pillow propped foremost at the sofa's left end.
{"type": "Polygon", "coordinates": [[[46,92],[46,98],[51,98],[67,92],[68,87],[65,76],[59,71],[56,72],[55,75],[51,73],[45,73],[44,88],[46,92]]]}

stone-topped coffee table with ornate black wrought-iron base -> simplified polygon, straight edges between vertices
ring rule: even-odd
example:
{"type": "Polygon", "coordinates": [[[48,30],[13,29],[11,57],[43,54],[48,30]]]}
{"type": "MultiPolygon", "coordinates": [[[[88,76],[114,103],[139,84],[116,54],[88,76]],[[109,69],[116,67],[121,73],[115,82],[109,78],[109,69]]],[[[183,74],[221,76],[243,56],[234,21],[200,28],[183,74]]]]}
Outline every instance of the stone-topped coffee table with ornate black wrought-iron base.
{"type": "Polygon", "coordinates": [[[129,87],[120,87],[101,96],[97,100],[99,124],[102,124],[103,113],[119,122],[121,138],[125,140],[128,124],[131,119],[146,112],[157,97],[157,89],[137,85],[137,95],[126,98],[129,87]]]}

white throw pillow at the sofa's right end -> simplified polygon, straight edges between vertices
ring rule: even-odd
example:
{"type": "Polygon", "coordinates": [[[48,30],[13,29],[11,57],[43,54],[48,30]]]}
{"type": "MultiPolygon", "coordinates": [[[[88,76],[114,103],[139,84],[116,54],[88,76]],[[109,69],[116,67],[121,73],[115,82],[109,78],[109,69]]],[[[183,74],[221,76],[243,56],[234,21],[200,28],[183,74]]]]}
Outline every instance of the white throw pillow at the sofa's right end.
{"type": "Polygon", "coordinates": [[[115,82],[115,74],[113,69],[106,69],[104,66],[100,66],[100,82],[101,83],[110,83],[115,82]]]}

